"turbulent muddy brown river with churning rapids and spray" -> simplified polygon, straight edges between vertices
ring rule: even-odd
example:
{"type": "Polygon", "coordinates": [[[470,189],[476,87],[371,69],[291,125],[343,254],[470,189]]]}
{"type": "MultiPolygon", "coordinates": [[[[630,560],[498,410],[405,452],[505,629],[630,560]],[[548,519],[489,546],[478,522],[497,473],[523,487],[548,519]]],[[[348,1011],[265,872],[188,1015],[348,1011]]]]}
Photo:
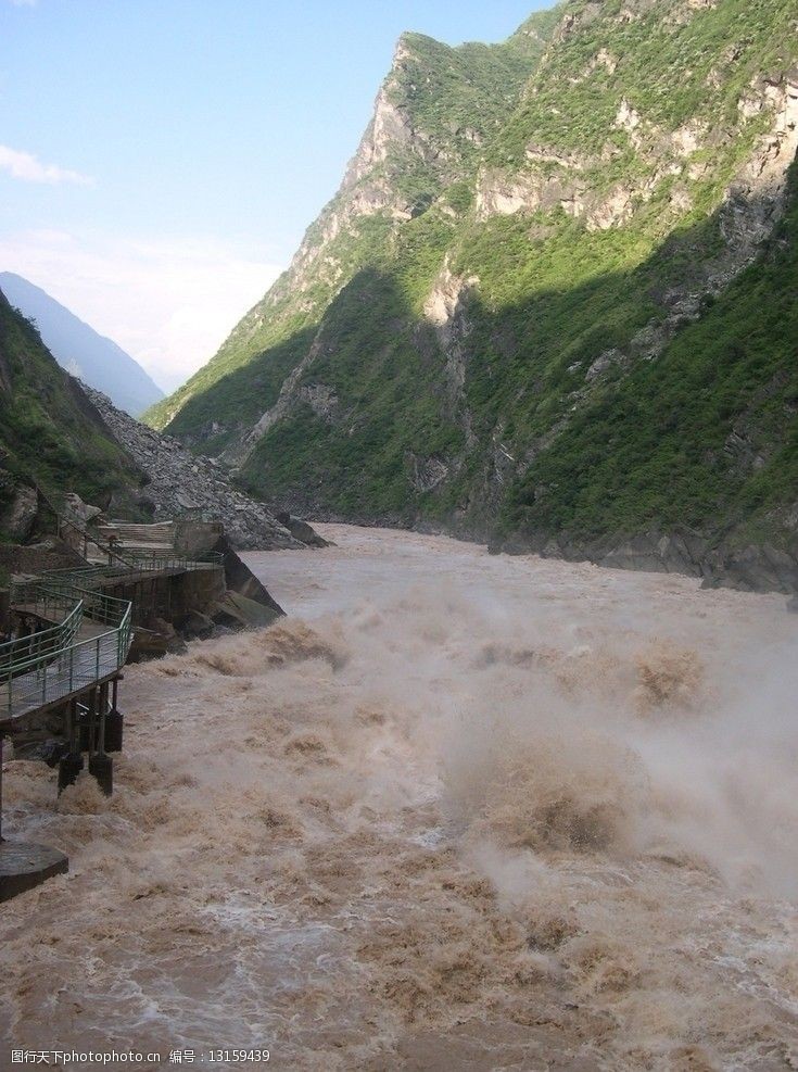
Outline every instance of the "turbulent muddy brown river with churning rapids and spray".
{"type": "Polygon", "coordinates": [[[71,871],[0,910],[2,1068],[798,1069],[784,598],[319,528],[246,556],[281,623],[128,669],[110,800],[7,765],[71,871]]]}

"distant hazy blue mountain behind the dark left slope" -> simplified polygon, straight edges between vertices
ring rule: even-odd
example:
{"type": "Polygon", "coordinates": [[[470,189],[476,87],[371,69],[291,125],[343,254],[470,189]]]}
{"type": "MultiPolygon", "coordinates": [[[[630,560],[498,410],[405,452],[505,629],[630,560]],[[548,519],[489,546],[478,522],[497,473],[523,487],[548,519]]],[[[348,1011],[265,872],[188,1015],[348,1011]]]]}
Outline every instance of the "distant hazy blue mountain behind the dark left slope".
{"type": "Polygon", "coordinates": [[[0,272],[0,288],[12,305],[36,321],[61,367],[107,394],[121,409],[137,417],[163,399],[161,388],[129,354],[41,288],[12,272],[0,272]]]}

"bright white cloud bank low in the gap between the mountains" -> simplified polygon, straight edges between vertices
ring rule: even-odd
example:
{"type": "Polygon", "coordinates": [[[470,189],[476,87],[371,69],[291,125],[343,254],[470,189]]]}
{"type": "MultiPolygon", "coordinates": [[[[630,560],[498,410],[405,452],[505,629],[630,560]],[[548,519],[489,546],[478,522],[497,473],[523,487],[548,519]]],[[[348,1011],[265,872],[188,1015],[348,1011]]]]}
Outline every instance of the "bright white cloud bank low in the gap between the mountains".
{"type": "Polygon", "coordinates": [[[41,287],[170,391],[214,355],[281,268],[210,239],[39,230],[0,237],[2,270],[41,287]]]}

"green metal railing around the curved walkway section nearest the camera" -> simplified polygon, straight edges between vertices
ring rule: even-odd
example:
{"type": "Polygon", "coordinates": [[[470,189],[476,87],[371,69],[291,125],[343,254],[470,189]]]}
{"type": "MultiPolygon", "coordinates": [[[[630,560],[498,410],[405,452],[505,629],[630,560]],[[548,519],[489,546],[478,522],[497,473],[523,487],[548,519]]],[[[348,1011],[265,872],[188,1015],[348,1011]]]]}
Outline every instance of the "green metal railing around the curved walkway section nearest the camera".
{"type": "Polygon", "coordinates": [[[50,629],[0,645],[0,717],[18,718],[121,670],[132,639],[131,604],[63,583],[12,588],[20,614],[65,613],[50,629]],[[69,609],[71,605],[71,609],[69,609]],[[86,620],[106,627],[80,639],[86,620]],[[27,648],[21,647],[27,644],[27,648]]]}

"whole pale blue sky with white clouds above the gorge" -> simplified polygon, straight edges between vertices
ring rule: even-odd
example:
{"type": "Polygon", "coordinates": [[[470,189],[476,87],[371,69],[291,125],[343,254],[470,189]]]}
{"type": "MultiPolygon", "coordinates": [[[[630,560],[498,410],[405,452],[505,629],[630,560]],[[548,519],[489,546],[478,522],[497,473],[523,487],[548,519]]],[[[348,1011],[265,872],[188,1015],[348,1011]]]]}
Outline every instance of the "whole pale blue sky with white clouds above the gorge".
{"type": "Polygon", "coordinates": [[[0,270],[164,389],[332,197],[403,30],[497,41],[548,0],[0,0],[0,270]]]}

